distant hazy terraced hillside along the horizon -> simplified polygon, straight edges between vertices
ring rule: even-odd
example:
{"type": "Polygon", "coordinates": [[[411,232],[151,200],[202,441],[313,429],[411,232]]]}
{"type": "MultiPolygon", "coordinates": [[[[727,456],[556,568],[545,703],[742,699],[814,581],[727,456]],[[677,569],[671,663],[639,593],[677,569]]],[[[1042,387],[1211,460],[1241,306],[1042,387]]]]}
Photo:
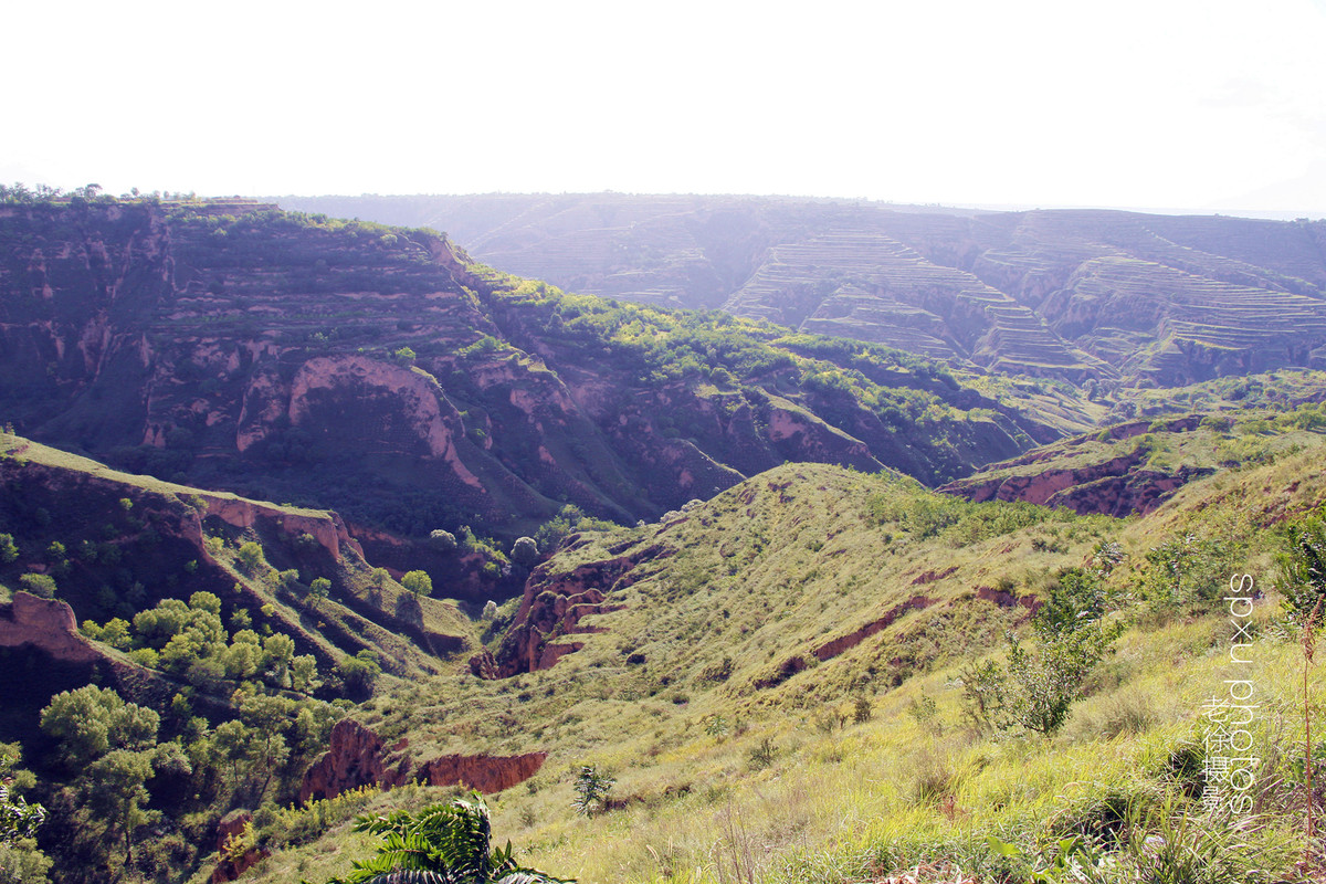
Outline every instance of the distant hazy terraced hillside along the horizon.
{"type": "Polygon", "coordinates": [[[1326,223],[762,197],[284,197],[575,292],[996,371],[1183,384],[1326,359],[1326,223]]]}

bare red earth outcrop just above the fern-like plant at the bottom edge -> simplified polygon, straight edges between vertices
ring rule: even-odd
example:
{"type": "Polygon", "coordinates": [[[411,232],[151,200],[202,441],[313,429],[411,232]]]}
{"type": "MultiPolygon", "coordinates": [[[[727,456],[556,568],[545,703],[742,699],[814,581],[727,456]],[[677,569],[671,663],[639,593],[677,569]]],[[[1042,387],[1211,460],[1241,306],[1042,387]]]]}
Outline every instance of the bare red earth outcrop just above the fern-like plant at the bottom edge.
{"type": "Polygon", "coordinates": [[[542,767],[546,753],[522,755],[440,755],[414,766],[402,755],[406,741],[390,749],[373,730],[353,718],[332,729],[332,742],[324,755],[304,774],[300,801],[335,798],[361,786],[391,789],[423,781],[430,786],[465,786],[481,793],[499,793],[522,783],[542,767]]]}

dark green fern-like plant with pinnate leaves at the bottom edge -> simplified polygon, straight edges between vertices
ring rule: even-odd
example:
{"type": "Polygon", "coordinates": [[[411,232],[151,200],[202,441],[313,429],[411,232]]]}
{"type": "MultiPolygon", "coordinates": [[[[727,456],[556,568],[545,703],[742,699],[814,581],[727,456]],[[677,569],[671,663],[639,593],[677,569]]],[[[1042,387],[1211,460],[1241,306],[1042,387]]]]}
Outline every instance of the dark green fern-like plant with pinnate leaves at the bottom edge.
{"type": "Polygon", "coordinates": [[[488,806],[479,793],[434,804],[414,816],[361,816],[354,831],[381,835],[373,859],[328,884],[573,884],[516,863],[511,842],[491,850],[488,806]]]}

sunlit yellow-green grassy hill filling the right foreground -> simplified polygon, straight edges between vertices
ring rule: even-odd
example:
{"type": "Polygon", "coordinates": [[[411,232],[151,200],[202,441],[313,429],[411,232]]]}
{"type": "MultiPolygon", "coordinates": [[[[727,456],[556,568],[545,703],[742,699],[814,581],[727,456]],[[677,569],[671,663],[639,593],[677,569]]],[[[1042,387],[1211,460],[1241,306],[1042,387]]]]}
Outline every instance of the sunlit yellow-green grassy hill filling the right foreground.
{"type": "MultiPolygon", "coordinates": [[[[495,832],[581,880],[1029,880],[1073,836],[1078,861],[1099,861],[1087,880],[1156,864],[1184,876],[1155,880],[1297,880],[1302,655],[1276,562],[1285,525],[1326,502],[1313,439],[1131,520],[782,467],[663,522],[569,538],[493,647],[499,664],[560,648],[552,665],[447,676],[357,717],[411,753],[549,753],[489,799],[495,832]],[[1242,574],[1258,595],[1240,668],[1224,596],[1242,574]],[[1090,641],[1103,657],[1045,726],[1034,685],[1090,641]],[[1001,696],[981,694],[987,660],[1001,696]],[[1219,754],[1203,704],[1236,676],[1260,701],[1257,814],[1235,814],[1250,827],[1201,806],[1219,754]],[[586,765],[615,779],[590,816],[572,807],[586,765]],[[1156,836],[1174,850],[1156,857],[1156,836]]],[[[371,843],[345,826],[306,844],[260,832],[277,850],[252,880],[339,873],[371,843]]]]}

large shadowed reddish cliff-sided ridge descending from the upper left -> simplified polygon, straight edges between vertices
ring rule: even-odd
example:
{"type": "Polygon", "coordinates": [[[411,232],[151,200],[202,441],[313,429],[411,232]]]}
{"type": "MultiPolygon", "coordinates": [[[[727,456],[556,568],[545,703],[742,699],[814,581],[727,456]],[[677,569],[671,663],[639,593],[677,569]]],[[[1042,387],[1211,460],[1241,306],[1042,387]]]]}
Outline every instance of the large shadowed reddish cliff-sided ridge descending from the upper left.
{"type": "Polygon", "coordinates": [[[528,530],[565,502],[629,524],[789,460],[932,481],[1053,435],[1025,416],[886,424],[786,363],[660,379],[426,231],[118,204],[7,209],[0,237],[0,414],[19,432],[395,534],[528,530]]]}

